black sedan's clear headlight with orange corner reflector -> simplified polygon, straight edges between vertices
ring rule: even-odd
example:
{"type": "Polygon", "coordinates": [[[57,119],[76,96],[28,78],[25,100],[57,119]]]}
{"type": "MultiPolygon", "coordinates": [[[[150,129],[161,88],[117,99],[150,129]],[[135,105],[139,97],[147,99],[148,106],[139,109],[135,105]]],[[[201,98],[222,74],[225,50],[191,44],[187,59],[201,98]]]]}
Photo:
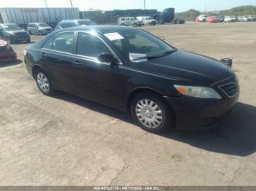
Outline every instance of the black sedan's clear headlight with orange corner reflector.
{"type": "Polygon", "coordinates": [[[222,97],[211,87],[196,87],[185,85],[174,85],[176,90],[182,95],[187,95],[195,98],[212,98],[221,99],[222,97]]]}

